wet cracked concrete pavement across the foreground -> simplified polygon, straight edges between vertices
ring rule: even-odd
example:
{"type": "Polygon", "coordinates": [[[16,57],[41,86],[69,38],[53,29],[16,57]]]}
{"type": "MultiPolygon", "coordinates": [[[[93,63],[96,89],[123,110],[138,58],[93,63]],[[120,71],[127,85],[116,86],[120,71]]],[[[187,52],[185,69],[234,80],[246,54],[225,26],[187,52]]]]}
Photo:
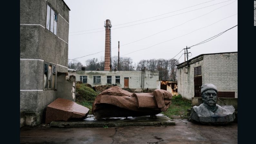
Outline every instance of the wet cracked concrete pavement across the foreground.
{"type": "Polygon", "coordinates": [[[30,128],[20,129],[20,143],[92,144],[234,144],[237,123],[201,125],[185,119],[173,126],[116,128],[30,128]]]}

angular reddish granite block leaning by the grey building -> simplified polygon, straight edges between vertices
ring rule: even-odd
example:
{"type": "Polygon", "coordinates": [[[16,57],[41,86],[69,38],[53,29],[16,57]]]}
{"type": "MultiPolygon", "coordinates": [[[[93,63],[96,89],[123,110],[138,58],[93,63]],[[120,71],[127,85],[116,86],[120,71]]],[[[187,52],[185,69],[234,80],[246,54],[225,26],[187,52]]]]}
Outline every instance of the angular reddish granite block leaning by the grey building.
{"type": "Polygon", "coordinates": [[[46,107],[45,124],[58,120],[80,119],[88,115],[89,109],[73,101],[58,98],[46,107]]]}

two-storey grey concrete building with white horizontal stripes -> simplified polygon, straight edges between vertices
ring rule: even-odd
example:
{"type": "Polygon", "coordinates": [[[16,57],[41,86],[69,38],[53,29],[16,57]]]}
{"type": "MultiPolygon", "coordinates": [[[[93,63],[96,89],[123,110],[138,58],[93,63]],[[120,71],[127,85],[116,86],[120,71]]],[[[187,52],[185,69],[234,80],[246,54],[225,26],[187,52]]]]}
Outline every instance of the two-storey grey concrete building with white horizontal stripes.
{"type": "Polygon", "coordinates": [[[69,7],[63,0],[20,0],[21,127],[43,122],[48,104],[69,100],[69,7]]]}

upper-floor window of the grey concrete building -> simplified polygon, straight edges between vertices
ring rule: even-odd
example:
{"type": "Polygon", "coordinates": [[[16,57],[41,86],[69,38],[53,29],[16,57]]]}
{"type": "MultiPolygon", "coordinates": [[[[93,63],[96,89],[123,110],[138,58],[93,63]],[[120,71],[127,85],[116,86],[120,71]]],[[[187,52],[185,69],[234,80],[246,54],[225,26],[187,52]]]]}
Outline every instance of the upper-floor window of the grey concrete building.
{"type": "Polygon", "coordinates": [[[57,35],[57,19],[58,15],[54,12],[50,5],[47,5],[46,10],[46,29],[57,35]]]}

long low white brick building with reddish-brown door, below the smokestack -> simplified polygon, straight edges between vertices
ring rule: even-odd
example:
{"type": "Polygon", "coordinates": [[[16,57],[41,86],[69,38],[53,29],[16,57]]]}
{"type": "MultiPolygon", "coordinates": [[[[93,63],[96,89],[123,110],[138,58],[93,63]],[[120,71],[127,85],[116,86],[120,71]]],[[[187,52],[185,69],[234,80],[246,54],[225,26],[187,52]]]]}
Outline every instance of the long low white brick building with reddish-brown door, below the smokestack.
{"type": "Polygon", "coordinates": [[[129,88],[131,91],[145,89],[155,90],[159,72],[151,71],[76,71],[76,81],[82,81],[90,85],[117,84],[121,88],[129,88]]]}

